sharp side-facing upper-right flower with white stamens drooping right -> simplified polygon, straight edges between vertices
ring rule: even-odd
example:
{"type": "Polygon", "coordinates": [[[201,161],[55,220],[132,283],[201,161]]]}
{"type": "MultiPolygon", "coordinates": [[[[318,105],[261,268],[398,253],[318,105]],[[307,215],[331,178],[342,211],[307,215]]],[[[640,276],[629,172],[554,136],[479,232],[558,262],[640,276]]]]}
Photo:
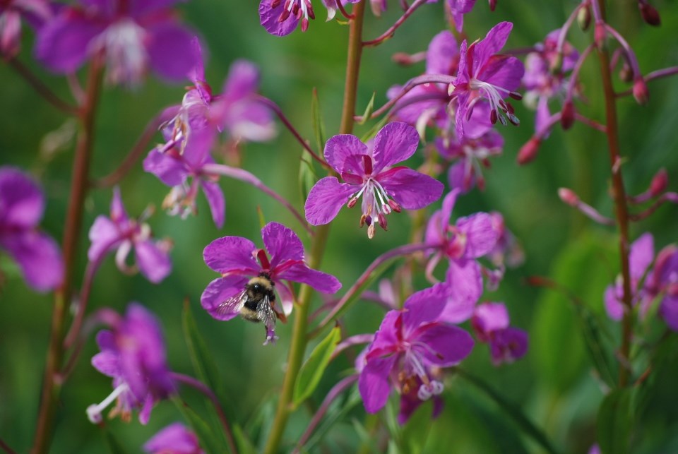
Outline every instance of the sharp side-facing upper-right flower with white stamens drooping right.
{"type": "Polygon", "coordinates": [[[505,125],[506,119],[514,125],[519,123],[513,106],[504,98],[521,99],[514,90],[521,84],[525,68],[515,56],[497,54],[506,44],[511,28],[512,23],[501,22],[489,30],[483,40],[470,45],[466,40],[461,43],[457,78],[448,88],[457,104],[455,131],[459,140],[463,139],[478,102],[489,103],[492,124],[499,120],[505,125]]]}

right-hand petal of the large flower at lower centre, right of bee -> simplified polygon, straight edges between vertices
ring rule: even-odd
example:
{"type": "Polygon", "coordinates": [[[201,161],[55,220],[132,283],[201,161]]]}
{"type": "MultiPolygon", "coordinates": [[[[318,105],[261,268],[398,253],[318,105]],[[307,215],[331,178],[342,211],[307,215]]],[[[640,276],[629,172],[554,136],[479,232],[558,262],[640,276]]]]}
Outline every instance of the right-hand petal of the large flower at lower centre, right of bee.
{"type": "MultiPolygon", "coordinates": [[[[412,342],[415,340],[412,339],[412,342]]],[[[474,344],[473,338],[465,330],[442,323],[424,325],[417,331],[416,342],[412,350],[420,352],[429,363],[440,367],[459,364],[468,357],[474,344]]]]}

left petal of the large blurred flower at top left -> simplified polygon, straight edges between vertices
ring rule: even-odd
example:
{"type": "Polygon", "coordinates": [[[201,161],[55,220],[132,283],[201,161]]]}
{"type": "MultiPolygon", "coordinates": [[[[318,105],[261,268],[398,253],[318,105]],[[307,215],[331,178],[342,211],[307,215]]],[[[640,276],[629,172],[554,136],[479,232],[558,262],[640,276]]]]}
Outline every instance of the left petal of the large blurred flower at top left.
{"type": "Polygon", "coordinates": [[[90,42],[107,24],[65,14],[45,23],[37,35],[35,56],[53,71],[71,73],[83,64],[90,42]]]}

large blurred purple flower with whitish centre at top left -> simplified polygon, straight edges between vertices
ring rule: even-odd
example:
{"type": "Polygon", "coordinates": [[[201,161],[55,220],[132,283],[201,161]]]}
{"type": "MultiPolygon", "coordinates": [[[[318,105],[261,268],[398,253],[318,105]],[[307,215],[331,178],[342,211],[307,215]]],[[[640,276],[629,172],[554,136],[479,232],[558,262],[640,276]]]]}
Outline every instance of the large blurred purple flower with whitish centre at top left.
{"type": "Polygon", "coordinates": [[[174,17],[177,0],[81,0],[66,6],[37,36],[36,54],[48,68],[76,71],[103,52],[110,83],[138,85],[149,66],[179,82],[196,64],[195,35],[174,17]]]}

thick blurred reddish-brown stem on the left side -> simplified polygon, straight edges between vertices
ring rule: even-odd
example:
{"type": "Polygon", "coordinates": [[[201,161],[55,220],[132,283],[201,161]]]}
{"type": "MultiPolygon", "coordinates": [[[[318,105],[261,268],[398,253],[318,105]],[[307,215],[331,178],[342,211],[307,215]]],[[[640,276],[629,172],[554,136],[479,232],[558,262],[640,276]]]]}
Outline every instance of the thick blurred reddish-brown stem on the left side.
{"type": "Polygon", "coordinates": [[[37,429],[31,452],[45,453],[52,440],[52,426],[61,382],[55,380],[64,359],[64,321],[66,309],[71,301],[73,274],[75,271],[78,243],[83,225],[83,208],[88,188],[90,159],[94,143],[94,120],[102,83],[103,64],[100,56],[95,56],[90,64],[85,101],[80,109],[81,131],[78,135],[76,153],[73,160],[71,179],[71,197],[64,227],[64,282],[54,292],[52,311],[52,331],[49,335],[47,364],[42,381],[40,410],[37,416],[37,429]]]}

